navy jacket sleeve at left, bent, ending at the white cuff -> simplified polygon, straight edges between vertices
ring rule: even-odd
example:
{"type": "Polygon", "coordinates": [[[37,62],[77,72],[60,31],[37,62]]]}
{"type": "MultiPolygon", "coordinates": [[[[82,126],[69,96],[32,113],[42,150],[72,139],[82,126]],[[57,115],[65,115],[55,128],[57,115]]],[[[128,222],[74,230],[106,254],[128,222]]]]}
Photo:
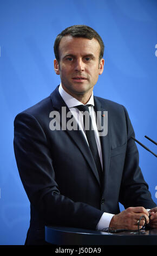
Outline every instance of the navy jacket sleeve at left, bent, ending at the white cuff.
{"type": "Polygon", "coordinates": [[[49,147],[38,120],[27,112],[18,114],[14,121],[14,151],[30,203],[45,224],[95,229],[103,212],[60,193],[49,147]]]}

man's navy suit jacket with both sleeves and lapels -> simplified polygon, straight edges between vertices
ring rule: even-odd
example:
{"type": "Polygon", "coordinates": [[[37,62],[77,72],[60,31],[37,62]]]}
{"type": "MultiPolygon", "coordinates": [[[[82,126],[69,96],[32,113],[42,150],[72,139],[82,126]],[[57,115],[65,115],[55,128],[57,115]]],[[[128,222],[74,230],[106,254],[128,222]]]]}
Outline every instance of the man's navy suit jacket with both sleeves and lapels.
{"type": "MultiPolygon", "coordinates": [[[[101,136],[103,178],[79,130],[50,129],[50,112],[66,103],[58,87],[46,99],[19,113],[14,149],[19,175],[30,200],[26,244],[44,244],[44,226],[95,229],[103,212],[118,214],[119,202],[155,205],[139,168],[132,124],[122,105],[94,97],[95,111],[108,111],[108,133],[101,136]]],[[[103,117],[102,117],[103,118],[103,117]]]]}

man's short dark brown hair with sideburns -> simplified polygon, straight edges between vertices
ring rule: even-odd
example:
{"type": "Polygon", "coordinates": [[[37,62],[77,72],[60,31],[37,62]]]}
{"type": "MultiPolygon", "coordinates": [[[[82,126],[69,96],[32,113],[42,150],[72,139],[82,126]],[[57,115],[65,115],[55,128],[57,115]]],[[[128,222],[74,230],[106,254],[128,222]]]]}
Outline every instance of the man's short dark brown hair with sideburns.
{"type": "Polygon", "coordinates": [[[54,53],[57,62],[60,62],[60,54],[59,54],[59,45],[60,41],[63,38],[63,36],[71,35],[75,38],[87,38],[87,39],[93,39],[95,38],[99,44],[100,44],[100,54],[99,54],[99,60],[103,57],[104,52],[104,44],[100,37],[100,35],[93,29],[86,25],[74,25],[71,27],[68,27],[64,29],[60,34],[57,35],[55,43],[54,43],[54,53]]]}

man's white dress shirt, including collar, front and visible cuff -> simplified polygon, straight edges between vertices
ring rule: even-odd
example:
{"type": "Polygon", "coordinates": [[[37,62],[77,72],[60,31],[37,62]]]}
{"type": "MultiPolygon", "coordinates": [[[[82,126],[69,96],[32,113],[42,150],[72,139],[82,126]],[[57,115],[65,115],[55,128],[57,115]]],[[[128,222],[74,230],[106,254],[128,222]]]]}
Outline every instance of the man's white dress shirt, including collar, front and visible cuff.
{"type": "MultiPolygon", "coordinates": [[[[66,103],[68,108],[70,109],[74,118],[76,119],[76,121],[77,121],[77,123],[80,127],[80,130],[83,132],[84,137],[87,140],[86,133],[84,132],[83,114],[82,114],[82,118],[80,118],[79,110],[78,110],[78,108],[76,108],[76,106],[82,105],[82,102],[76,100],[73,96],[68,94],[62,88],[62,84],[60,84],[58,90],[59,90],[59,93],[60,93],[62,99],[64,100],[64,102],[66,103]]],[[[97,131],[97,126],[96,126],[95,112],[94,112],[94,108],[93,108],[94,107],[93,93],[91,94],[91,97],[90,97],[89,101],[87,102],[87,104],[91,105],[91,106],[89,106],[89,113],[90,113],[91,121],[92,121],[92,124],[93,124],[93,127],[94,127],[97,150],[99,152],[100,162],[101,162],[101,166],[102,166],[102,150],[101,150],[100,136],[99,136],[99,133],[97,131]]],[[[87,143],[88,143],[88,141],[87,141],[87,143]]],[[[102,169],[103,169],[103,166],[102,166],[102,169]]],[[[97,223],[96,229],[97,230],[102,230],[103,228],[108,228],[109,223],[110,223],[113,216],[114,216],[113,214],[108,214],[107,212],[104,212],[103,215],[100,218],[99,223],[97,223]]]]}

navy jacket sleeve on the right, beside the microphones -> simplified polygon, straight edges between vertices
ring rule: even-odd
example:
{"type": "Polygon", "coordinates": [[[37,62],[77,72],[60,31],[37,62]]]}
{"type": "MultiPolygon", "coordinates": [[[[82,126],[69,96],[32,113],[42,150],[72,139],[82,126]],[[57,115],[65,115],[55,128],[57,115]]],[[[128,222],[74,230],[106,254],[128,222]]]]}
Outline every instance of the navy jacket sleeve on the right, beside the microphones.
{"type": "Polygon", "coordinates": [[[135,141],[132,139],[132,136],[135,137],[135,133],[125,107],[124,111],[128,138],[120,190],[120,203],[125,208],[129,206],[143,206],[146,209],[151,209],[156,204],[152,200],[151,193],[148,191],[148,184],[144,180],[139,167],[139,152],[135,141]]]}

